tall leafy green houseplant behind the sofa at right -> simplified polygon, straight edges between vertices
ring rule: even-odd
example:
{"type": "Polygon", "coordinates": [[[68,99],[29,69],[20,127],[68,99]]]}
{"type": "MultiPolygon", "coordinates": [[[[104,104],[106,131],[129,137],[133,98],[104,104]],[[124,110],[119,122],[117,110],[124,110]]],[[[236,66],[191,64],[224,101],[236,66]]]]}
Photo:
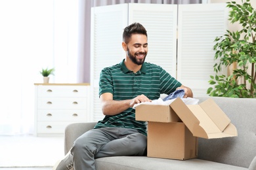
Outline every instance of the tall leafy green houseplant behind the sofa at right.
{"type": "Polygon", "coordinates": [[[256,10],[251,7],[249,0],[243,1],[242,5],[236,2],[228,2],[230,9],[229,19],[232,24],[238,22],[242,29],[227,31],[221,37],[216,37],[215,59],[218,63],[213,66],[216,73],[211,75],[207,94],[222,97],[256,97],[256,10]],[[230,75],[218,75],[222,67],[232,66],[230,75]]]}

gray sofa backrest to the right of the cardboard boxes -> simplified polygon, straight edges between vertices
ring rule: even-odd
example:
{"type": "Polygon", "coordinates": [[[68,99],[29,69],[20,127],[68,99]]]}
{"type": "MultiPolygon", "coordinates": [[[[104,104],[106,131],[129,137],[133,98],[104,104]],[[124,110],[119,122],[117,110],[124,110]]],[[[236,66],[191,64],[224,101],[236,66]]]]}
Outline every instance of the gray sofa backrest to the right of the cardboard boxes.
{"type": "MultiPolygon", "coordinates": [[[[198,97],[200,102],[207,97],[198,97]]],[[[238,137],[198,139],[198,158],[249,167],[256,156],[256,99],[212,97],[238,130],[238,137]]]]}

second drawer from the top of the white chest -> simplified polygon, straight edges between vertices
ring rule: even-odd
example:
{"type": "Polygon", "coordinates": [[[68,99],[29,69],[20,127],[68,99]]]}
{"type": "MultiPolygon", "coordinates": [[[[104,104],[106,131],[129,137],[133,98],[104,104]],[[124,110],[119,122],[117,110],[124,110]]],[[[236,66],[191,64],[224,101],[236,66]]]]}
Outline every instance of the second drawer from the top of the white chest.
{"type": "Polygon", "coordinates": [[[48,98],[38,99],[38,109],[86,109],[87,98],[48,98]]]}

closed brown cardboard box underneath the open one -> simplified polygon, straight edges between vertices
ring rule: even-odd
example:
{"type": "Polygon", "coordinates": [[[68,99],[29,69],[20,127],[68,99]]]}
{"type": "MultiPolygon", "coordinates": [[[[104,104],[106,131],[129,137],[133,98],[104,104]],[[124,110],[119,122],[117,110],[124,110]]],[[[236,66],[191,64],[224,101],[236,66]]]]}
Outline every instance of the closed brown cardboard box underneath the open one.
{"type": "Polygon", "coordinates": [[[198,142],[182,122],[148,122],[148,157],[188,160],[197,157],[198,142]]]}

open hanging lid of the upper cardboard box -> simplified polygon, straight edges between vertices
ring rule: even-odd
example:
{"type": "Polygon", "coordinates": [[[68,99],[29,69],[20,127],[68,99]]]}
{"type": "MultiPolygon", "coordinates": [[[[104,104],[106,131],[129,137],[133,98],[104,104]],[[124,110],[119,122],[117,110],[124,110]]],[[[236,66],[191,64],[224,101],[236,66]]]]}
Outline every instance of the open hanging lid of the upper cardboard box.
{"type": "Polygon", "coordinates": [[[214,104],[212,99],[203,105],[185,105],[181,99],[177,98],[171,103],[171,108],[196,137],[212,139],[237,136],[236,127],[230,123],[229,118],[214,104]],[[216,115],[215,112],[217,112],[216,115]],[[221,120],[216,118],[217,116],[220,116],[221,120]],[[220,121],[220,123],[215,121],[220,121]]]}

